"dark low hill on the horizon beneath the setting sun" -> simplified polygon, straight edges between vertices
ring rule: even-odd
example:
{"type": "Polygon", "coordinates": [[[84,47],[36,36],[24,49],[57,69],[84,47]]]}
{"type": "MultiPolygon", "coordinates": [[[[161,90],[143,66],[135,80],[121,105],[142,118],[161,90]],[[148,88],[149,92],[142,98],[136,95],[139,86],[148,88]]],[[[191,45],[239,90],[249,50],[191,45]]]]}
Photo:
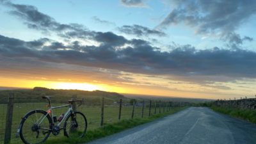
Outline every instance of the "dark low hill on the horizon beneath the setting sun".
{"type": "Polygon", "coordinates": [[[72,97],[84,99],[85,102],[99,103],[102,97],[106,102],[118,101],[124,98],[124,95],[115,92],[103,92],[99,90],[84,91],[84,90],[54,90],[49,88],[35,87],[32,90],[0,90],[0,103],[6,103],[9,93],[14,93],[15,102],[45,102],[41,97],[50,95],[52,102],[67,103],[67,100],[72,97]]]}

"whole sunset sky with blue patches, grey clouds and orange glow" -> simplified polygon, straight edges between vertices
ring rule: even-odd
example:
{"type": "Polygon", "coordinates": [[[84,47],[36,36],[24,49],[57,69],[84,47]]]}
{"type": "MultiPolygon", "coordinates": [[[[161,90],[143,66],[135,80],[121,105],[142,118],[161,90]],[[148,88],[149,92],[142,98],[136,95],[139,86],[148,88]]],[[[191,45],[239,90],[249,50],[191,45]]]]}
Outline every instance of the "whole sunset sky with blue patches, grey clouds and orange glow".
{"type": "Polygon", "coordinates": [[[256,1],[0,0],[0,86],[255,97],[256,1]]]}

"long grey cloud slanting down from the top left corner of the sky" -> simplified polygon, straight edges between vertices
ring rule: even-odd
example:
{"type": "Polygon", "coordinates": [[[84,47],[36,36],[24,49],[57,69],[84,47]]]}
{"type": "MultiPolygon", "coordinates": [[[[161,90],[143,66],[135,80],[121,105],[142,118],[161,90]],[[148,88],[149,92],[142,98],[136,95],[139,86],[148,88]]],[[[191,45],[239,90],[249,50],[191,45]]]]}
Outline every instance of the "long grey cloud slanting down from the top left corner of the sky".
{"type": "Polygon", "coordinates": [[[81,24],[61,24],[49,15],[39,12],[35,6],[25,4],[13,4],[6,1],[5,5],[13,8],[9,13],[24,20],[24,24],[31,29],[37,29],[44,33],[54,31],[59,36],[70,38],[90,38],[94,35],[94,31],[84,28],[81,24]]]}

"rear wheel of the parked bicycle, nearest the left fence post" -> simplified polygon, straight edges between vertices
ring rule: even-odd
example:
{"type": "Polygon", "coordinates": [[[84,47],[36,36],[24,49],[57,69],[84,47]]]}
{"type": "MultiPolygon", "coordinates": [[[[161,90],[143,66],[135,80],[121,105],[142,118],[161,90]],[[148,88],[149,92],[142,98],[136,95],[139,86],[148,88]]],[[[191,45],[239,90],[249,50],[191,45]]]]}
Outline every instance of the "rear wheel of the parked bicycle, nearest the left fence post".
{"type": "Polygon", "coordinates": [[[36,109],[20,122],[20,138],[26,144],[43,143],[51,134],[52,120],[46,111],[36,109]]]}

